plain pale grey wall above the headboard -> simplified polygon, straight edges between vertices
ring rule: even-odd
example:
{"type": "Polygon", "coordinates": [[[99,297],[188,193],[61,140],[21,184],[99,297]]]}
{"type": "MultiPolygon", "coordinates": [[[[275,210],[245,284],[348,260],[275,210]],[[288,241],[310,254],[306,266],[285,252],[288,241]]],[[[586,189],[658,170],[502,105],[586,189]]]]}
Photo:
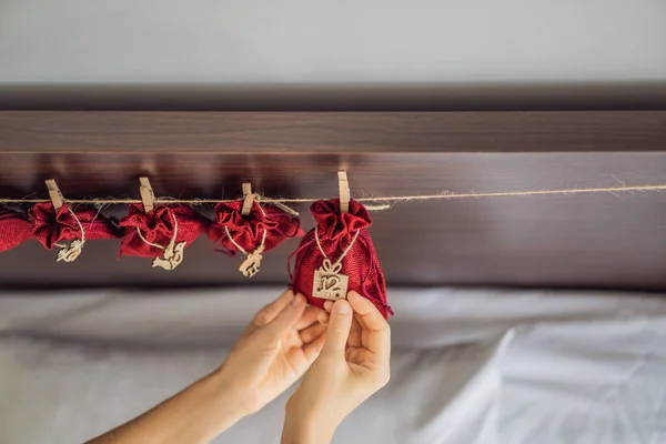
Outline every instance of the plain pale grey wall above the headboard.
{"type": "Polygon", "coordinates": [[[666,0],[0,0],[0,85],[666,80],[666,0]]]}

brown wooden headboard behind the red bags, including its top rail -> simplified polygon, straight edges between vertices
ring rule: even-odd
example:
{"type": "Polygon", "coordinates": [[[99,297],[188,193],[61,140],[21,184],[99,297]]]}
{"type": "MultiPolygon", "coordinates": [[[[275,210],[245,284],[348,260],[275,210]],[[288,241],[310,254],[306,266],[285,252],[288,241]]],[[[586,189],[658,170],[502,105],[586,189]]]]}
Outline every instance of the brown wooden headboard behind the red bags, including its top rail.
{"type": "MultiPolygon", "coordinates": [[[[0,112],[0,194],[353,196],[666,183],[666,112],[0,112]]],[[[205,209],[202,209],[205,211],[205,209]]],[[[312,226],[305,205],[303,224],[312,226]]],[[[111,209],[110,211],[122,211],[111,209]]],[[[666,290],[666,194],[400,203],[373,213],[390,285],[666,290]]],[[[290,241],[248,280],[205,239],[173,272],[87,243],[72,264],[37,242],[0,254],[0,286],[286,283],[290,241]]]]}

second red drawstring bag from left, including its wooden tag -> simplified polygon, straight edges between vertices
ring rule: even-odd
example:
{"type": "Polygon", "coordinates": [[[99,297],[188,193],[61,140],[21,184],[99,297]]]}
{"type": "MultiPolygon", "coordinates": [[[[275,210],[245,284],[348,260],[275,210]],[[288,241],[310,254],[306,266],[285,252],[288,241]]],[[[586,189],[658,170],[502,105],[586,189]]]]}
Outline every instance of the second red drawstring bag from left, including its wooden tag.
{"type": "Polygon", "coordinates": [[[58,261],[73,262],[88,240],[119,236],[119,230],[93,209],[72,210],[63,203],[56,210],[51,202],[42,202],[34,204],[28,214],[33,223],[34,239],[47,250],[60,248],[58,261]]]}

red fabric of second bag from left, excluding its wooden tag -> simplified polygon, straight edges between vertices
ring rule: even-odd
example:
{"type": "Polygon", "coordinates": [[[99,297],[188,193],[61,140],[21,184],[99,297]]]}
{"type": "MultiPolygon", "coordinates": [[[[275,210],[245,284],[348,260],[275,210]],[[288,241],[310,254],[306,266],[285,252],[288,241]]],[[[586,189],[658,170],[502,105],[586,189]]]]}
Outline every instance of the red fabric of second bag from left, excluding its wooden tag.
{"type": "MultiPolygon", "coordinates": [[[[118,238],[118,231],[97,210],[77,209],[72,212],[83,225],[85,240],[118,238]]],[[[81,226],[68,210],[67,203],[58,211],[51,202],[37,203],[28,214],[33,223],[34,239],[48,250],[53,249],[58,242],[81,239],[81,226]]]]}

